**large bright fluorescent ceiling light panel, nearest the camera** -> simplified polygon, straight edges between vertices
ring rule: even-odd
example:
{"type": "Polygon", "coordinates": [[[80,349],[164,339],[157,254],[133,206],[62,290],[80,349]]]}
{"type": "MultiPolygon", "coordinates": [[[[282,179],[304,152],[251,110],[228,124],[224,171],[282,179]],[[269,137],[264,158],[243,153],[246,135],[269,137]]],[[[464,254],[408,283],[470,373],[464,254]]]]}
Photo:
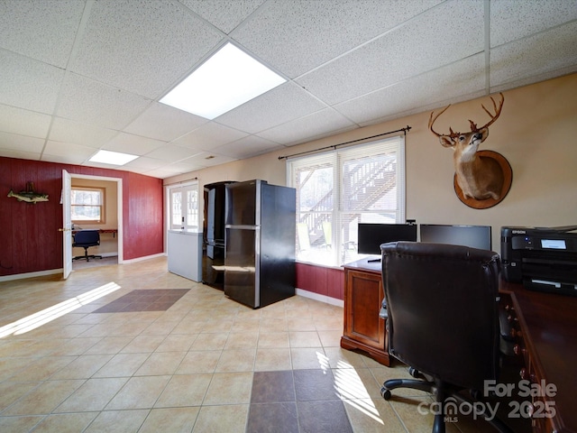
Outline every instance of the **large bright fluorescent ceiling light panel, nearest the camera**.
{"type": "Polygon", "coordinates": [[[229,42],[160,102],[212,120],[285,81],[229,42]]]}

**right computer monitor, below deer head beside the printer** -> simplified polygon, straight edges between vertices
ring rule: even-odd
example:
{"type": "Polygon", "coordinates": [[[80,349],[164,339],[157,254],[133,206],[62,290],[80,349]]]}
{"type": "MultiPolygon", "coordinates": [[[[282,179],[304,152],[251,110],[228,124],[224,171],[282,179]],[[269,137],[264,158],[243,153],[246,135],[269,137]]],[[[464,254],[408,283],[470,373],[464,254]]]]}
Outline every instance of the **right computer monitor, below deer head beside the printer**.
{"type": "Polygon", "coordinates": [[[450,226],[441,224],[421,224],[421,242],[454,244],[491,249],[490,226],[450,226]]]}

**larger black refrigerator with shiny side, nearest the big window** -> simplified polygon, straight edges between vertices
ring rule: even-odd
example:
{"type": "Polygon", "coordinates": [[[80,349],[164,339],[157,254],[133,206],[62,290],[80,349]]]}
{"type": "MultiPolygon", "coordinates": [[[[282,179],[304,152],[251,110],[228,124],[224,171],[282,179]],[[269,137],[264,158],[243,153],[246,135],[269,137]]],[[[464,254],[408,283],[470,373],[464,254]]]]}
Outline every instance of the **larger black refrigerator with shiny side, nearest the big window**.
{"type": "Polygon", "coordinates": [[[253,309],[295,294],[296,190],[226,185],[224,295],[253,309]]]}

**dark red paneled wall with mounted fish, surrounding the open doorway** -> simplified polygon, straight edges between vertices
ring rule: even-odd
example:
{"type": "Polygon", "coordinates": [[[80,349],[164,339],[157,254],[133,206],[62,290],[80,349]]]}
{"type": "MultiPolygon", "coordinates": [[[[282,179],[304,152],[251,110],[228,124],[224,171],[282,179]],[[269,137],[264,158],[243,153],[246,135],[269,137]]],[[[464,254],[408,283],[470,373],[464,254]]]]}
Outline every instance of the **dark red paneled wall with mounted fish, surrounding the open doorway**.
{"type": "Polygon", "coordinates": [[[0,157],[0,276],[62,268],[62,170],[123,180],[124,260],[163,253],[162,180],[123,170],[0,157]],[[29,204],[8,198],[26,189],[49,195],[29,204]]]}

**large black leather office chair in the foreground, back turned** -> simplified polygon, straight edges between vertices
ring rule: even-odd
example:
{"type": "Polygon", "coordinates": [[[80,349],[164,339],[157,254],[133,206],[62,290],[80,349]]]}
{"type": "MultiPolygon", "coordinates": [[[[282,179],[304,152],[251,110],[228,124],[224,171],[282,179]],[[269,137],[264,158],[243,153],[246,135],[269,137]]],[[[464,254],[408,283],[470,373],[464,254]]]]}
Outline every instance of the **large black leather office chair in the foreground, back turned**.
{"type": "MultiPolygon", "coordinates": [[[[445,403],[472,404],[483,397],[484,381],[499,379],[499,255],[413,242],[380,250],[389,354],[416,378],[388,380],[380,393],[385,400],[396,388],[434,394],[433,432],[444,433],[445,403]]],[[[488,415],[481,418],[512,432],[488,415]]]]}

